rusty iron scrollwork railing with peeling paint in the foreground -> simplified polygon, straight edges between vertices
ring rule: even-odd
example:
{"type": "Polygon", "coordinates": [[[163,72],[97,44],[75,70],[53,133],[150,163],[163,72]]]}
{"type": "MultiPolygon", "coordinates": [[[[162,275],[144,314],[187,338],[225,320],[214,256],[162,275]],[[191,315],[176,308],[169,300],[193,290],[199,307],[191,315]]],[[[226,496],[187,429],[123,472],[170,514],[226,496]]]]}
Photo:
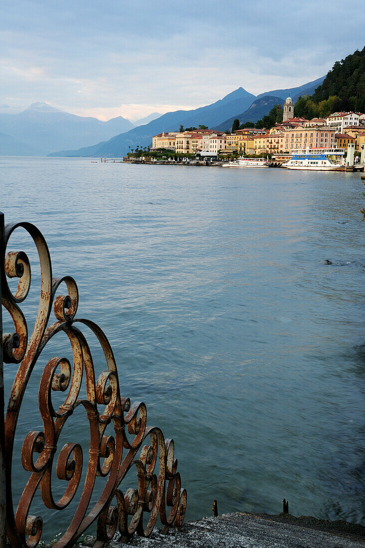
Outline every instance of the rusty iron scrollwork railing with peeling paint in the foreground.
{"type": "Polygon", "coordinates": [[[33,548],[40,542],[42,516],[31,515],[32,500],[38,490],[44,505],[52,510],[65,509],[77,494],[75,515],[55,548],[73,546],[94,522],[97,522],[96,548],[113,538],[117,528],[123,536],[135,532],[148,536],[158,517],[164,526],[181,526],[187,492],[181,487],[173,440],[165,439],[158,427],[147,425],[144,403],[131,404],[129,398],[121,396],[117,366],[108,339],[95,323],[75,317],[78,306],[75,280],[70,276],[52,276],[47,243],[36,226],[27,222],[5,226],[4,240],[0,256],[2,305],[13,320],[14,332],[3,335],[3,359],[4,363],[19,364],[5,415],[8,541],[14,548],[33,548]],[[9,237],[19,228],[25,229],[33,239],[41,266],[40,304],[31,334],[21,309],[31,284],[30,261],[23,251],[7,252],[9,237]],[[15,292],[10,290],[8,278],[18,278],[15,292]],[[65,295],[56,296],[63,287],[65,295]],[[53,323],[50,320],[52,307],[53,323]],[[105,356],[106,367],[98,379],[81,324],[96,335],[105,356]],[[57,356],[49,359],[44,367],[38,392],[43,430],[30,431],[25,436],[21,464],[29,478],[14,507],[12,483],[16,470],[12,463],[21,404],[37,359],[60,332],[69,339],[72,360],[57,356]],[[83,383],[85,399],[80,398],[83,383]],[[65,393],[60,406],[53,407],[54,391],[65,393]],[[72,421],[76,408],[83,410],[89,430],[87,458],[78,443],[77,432],[74,439],[58,447],[60,433],[66,421],[72,421]],[[113,435],[105,433],[109,424],[113,426],[113,435]],[[53,470],[65,484],[59,500],[55,500],[52,492],[53,470]],[[122,481],[128,471],[128,478],[132,476],[136,486],[123,492],[122,481]],[[104,482],[94,503],[97,476],[104,478],[104,482]]]}

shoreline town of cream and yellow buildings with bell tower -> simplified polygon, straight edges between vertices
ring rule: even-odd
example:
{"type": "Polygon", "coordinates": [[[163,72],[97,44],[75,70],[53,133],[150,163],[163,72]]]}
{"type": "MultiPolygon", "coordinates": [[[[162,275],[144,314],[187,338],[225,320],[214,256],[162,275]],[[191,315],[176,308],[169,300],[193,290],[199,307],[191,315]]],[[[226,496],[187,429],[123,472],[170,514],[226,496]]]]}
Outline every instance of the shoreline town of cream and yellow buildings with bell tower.
{"type": "Polygon", "coordinates": [[[239,126],[235,120],[232,131],[183,128],[178,132],[154,135],[151,147],[132,149],[125,160],[142,158],[148,163],[158,160],[203,162],[224,161],[243,157],[268,157],[273,162],[288,161],[298,149],[347,149],[354,145],[355,163],[360,159],[361,146],[365,144],[365,114],[359,112],[334,112],[327,118],[311,120],[293,117],[294,102],[290,96],[283,107],[283,120],[271,128],[256,128],[253,123],[239,126]]]}

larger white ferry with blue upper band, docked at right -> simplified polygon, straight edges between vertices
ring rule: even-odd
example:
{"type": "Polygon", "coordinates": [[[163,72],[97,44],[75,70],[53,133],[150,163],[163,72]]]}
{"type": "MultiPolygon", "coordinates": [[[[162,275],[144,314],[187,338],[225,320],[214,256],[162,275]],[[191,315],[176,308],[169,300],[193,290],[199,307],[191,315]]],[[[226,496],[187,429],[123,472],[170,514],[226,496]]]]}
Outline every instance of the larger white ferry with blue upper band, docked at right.
{"type": "Polygon", "coordinates": [[[296,149],[291,159],[283,164],[288,169],[309,169],[313,171],[342,171],[346,165],[344,149],[296,149]]]}

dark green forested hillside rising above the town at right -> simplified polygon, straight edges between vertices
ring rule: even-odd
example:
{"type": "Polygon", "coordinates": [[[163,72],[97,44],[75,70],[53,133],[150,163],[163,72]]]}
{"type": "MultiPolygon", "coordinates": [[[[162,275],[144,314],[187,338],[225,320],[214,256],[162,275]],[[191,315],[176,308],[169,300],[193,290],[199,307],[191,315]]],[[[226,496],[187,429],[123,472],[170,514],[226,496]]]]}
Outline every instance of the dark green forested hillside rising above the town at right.
{"type": "Polygon", "coordinates": [[[300,97],[295,116],[323,118],[332,112],[365,112],[365,47],[336,61],[313,95],[300,97]]]}

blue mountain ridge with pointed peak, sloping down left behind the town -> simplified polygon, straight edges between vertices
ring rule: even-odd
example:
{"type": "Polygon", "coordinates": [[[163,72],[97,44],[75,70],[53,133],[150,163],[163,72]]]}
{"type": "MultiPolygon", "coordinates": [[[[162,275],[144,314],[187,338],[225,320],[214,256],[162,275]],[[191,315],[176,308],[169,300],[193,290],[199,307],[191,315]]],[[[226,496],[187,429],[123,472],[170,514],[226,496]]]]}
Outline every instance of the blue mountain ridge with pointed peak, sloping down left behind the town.
{"type": "Polygon", "coordinates": [[[229,93],[223,99],[220,99],[211,105],[199,107],[194,110],[178,110],[175,112],[167,112],[148,124],[140,125],[130,131],[116,135],[109,141],[98,142],[91,147],[82,147],[78,150],[63,150],[61,152],[52,153],[49,156],[105,156],[105,157],[120,157],[128,152],[128,147],[134,149],[138,146],[148,146],[152,142],[153,135],[171,131],[177,131],[179,125],[184,127],[196,126],[204,124],[207,127],[214,127],[233,116],[235,112],[246,110],[255,95],[246,92],[243,88],[238,88],[234,92],[229,93]]]}

